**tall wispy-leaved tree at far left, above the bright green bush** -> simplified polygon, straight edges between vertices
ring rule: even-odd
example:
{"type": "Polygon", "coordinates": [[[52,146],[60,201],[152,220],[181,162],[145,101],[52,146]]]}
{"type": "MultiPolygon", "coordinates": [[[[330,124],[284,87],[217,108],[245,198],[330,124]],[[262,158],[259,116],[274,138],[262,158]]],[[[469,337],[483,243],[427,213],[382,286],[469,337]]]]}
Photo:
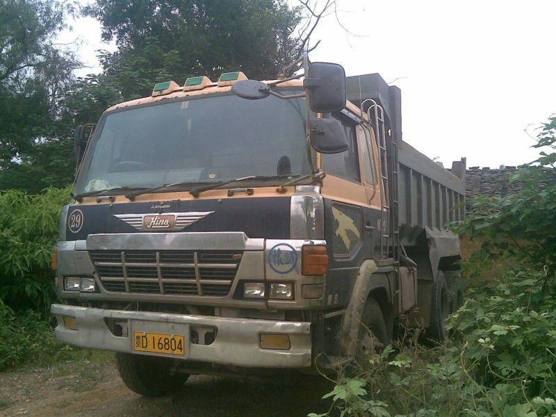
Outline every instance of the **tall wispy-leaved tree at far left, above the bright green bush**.
{"type": "Polygon", "coordinates": [[[72,11],[58,0],[0,3],[0,189],[36,192],[72,179],[69,174],[69,180],[60,181],[71,165],[61,158],[67,144],[60,142],[65,131],[59,123],[60,98],[79,63],[69,49],[55,43],[72,11]],[[28,170],[37,161],[47,164],[28,170]],[[56,172],[59,178],[50,181],[56,172]]]}

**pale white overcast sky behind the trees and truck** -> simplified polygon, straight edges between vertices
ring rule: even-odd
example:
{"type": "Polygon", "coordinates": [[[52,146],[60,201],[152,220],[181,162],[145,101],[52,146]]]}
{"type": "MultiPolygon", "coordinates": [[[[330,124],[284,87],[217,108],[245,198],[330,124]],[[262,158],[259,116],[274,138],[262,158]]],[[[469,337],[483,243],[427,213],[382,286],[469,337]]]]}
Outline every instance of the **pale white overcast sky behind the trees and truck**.
{"type": "MultiPolygon", "coordinates": [[[[494,168],[537,158],[530,135],[556,113],[556,1],[337,3],[311,37],[321,40],[311,60],[398,85],[410,145],[448,167],[461,157],[494,168]]],[[[101,42],[95,19],[70,24],[60,40],[78,41],[88,65],[78,74],[98,72],[95,51],[114,44],[101,42]]]]}

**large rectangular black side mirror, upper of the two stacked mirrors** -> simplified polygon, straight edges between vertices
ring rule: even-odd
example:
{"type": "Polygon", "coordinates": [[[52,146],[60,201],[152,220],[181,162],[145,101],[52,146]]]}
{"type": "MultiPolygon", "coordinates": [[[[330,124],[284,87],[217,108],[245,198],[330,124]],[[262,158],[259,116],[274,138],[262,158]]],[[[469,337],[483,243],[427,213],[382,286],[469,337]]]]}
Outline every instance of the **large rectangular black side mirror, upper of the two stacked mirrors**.
{"type": "Polygon", "coordinates": [[[312,111],[331,113],[345,107],[345,71],[341,65],[311,63],[303,85],[309,92],[312,111]]]}

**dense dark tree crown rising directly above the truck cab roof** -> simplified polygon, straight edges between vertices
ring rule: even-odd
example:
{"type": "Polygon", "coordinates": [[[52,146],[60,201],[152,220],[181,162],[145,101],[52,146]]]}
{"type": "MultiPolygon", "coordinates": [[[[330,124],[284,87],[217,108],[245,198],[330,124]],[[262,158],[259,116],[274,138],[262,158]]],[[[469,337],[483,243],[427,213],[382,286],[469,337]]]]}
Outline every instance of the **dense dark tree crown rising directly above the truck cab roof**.
{"type": "Polygon", "coordinates": [[[97,0],[86,10],[101,22],[104,39],[115,38],[119,47],[104,67],[106,75],[142,81],[150,73],[140,88],[190,75],[215,80],[235,70],[274,78],[300,46],[291,36],[300,8],[284,0],[97,0]],[[135,67],[127,65],[136,59],[135,67]],[[157,71],[170,77],[154,78],[157,71]]]}

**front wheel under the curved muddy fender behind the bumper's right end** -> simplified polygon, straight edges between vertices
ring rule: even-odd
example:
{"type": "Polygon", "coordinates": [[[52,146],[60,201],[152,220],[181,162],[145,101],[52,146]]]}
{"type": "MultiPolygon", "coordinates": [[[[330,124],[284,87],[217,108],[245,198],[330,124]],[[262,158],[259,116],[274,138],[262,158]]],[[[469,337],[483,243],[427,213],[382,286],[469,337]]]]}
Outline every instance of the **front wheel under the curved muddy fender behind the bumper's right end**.
{"type": "Polygon", "coordinates": [[[377,300],[369,297],[361,313],[355,361],[363,370],[367,369],[370,366],[369,354],[382,352],[390,343],[382,309],[377,300]]]}

